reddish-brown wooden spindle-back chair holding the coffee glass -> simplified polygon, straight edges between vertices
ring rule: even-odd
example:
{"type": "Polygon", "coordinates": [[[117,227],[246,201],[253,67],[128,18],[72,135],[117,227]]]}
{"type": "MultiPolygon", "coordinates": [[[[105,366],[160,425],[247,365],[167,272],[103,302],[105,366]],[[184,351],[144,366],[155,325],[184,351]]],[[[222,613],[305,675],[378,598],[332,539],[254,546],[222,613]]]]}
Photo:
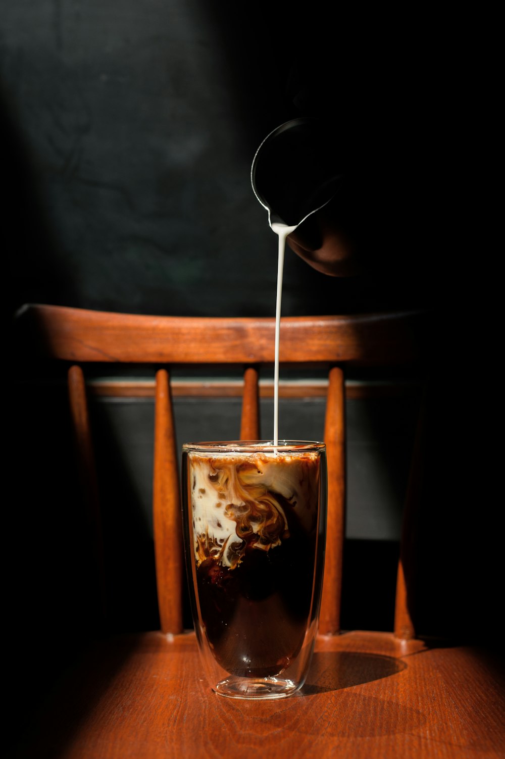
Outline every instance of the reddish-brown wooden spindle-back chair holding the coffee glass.
{"type": "MultiPolygon", "coordinates": [[[[328,367],[324,439],[329,470],[328,540],[320,632],[299,696],[264,703],[219,698],[200,679],[185,631],[184,569],[170,367],[244,367],[241,439],[257,438],[258,373],[273,362],[270,319],[147,317],[28,306],[17,318],[21,352],[68,362],[68,392],[80,474],[103,561],[99,496],[85,370],[96,362],[156,367],[153,522],[161,630],[105,637],[58,682],[22,756],[358,757],[503,756],[503,681],[491,654],[416,638],[412,621],[412,526],[422,456],[413,458],[393,632],[340,632],[344,538],[343,368],[419,361],[422,313],[282,320],[282,364],[328,367]],[[500,754],[500,751],[502,752],[500,754]]],[[[422,444],[422,424],[416,445],[422,444]]],[[[103,605],[106,598],[103,597],[103,605]]]]}

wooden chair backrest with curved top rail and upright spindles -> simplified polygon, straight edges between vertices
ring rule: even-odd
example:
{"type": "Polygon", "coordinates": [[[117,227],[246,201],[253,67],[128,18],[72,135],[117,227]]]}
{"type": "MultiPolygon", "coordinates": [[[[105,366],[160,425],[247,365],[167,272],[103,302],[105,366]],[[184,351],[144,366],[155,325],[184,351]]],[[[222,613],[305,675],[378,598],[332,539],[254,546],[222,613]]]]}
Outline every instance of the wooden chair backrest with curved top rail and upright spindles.
{"type": "MultiPolygon", "coordinates": [[[[320,632],[339,631],[342,546],[345,531],[345,383],[346,365],[405,365],[419,360],[425,314],[374,313],[345,317],[292,317],[280,330],[280,362],[297,367],[327,367],[324,442],[328,462],[328,540],[320,632]]],[[[99,497],[93,459],[86,364],[150,364],[156,376],[153,524],[156,583],[161,628],[183,630],[184,582],[179,492],[179,455],[175,448],[170,367],[181,364],[239,364],[244,368],[240,438],[258,437],[258,376],[273,364],[274,320],[270,318],[150,317],[67,307],[28,305],[17,315],[17,339],[31,341],[41,357],[69,362],[68,391],[82,487],[96,524],[96,556],[103,552],[99,497]]],[[[415,468],[412,471],[415,478],[415,468]]],[[[412,479],[411,477],[411,479],[412,479]]],[[[404,532],[412,521],[407,499],[404,532]]],[[[406,536],[405,543],[407,544],[406,536]]],[[[396,587],[395,633],[415,635],[409,615],[401,553],[396,587]]],[[[103,601],[105,603],[105,599],[103,601]]]]}

